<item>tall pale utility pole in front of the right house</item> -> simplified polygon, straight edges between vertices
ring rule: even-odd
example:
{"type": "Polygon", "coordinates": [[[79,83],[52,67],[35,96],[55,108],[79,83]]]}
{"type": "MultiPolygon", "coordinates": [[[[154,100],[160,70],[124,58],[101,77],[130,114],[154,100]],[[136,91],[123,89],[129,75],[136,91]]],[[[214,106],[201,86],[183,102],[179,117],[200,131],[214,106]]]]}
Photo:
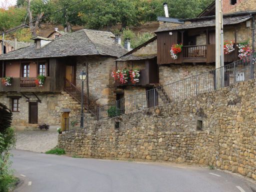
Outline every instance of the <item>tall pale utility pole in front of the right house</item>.
{"type": "Polygon", "coordinates": [[[216,70],[216,87],[224,85],[224,53],[223,53],[223,15],[222,1],[215,0],[215,68],[216,70]]]}

